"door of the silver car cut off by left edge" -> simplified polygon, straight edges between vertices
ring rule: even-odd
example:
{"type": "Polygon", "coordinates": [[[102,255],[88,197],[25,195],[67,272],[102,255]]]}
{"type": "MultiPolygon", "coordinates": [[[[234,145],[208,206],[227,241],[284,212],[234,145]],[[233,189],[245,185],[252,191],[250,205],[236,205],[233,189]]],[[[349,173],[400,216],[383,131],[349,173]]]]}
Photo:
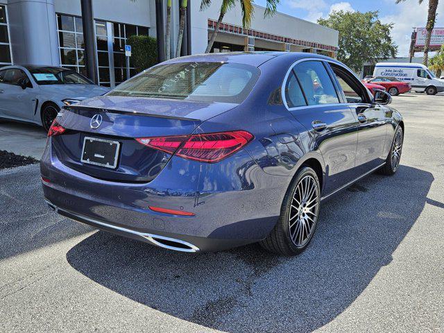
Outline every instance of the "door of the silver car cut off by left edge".
{"type": "Polygon", "coordinates": [[[31,92],[33,85],[22,69],[6,69],[0,89],[2,91],[0,103],[5,117],[19,120],[34,119],[35,98],[31,92]]]}

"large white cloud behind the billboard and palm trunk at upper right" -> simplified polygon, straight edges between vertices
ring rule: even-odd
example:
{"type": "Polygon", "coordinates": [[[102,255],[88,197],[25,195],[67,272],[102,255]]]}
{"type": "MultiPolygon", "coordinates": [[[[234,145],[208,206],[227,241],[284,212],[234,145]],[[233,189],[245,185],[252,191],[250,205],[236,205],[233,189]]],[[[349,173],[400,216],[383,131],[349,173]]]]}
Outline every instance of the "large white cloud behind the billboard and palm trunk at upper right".
{"type": "MultiPolygon", "coordinates": [[[[428,1],[424,1],[419,5],[418,0],[407,0],[398,5],[393,5],[394,8],[399,8],[398,13],[395,15],[381,17],[383,23],[393,23],[391,36],[395,44],[398,45],[398,57],[409,56],[411,32],[413,27],[420,28],[425,26],[427,21],[427,4],[428,1]]],[[[444,15],[444,1],[439,3],[438,13],[444,15]]],[[[436,26],[443,26],[441,15],[438,15],[436,19],[436,26]]],[[[419,56],[419,53],[416,53],[416,55],[419,56]]]]}

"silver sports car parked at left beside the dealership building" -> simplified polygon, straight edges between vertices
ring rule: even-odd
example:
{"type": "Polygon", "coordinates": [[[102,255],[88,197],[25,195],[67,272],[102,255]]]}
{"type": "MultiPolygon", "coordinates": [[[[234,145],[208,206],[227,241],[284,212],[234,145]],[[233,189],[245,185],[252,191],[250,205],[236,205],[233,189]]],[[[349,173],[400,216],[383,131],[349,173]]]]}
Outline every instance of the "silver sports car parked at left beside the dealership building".
{"type": "Polygon", "coordinates": [[[62,106],[99,96],[108,90],[62,67],[2,67],[0,119],[37,123],[47,131],[62,106]]]}

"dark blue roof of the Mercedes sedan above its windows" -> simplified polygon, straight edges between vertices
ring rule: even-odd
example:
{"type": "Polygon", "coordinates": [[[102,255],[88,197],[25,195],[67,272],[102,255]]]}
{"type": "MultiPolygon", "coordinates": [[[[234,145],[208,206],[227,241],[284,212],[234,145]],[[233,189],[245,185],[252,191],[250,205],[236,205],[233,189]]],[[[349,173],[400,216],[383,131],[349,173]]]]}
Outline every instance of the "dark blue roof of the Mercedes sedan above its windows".
{"type": "Polygon", "coordinates": [[[174,58],[168,60],[167,62],[162,62],[162,65],[174,62],[196,61],[196,62],[234,62],[238,64],[259,67],[264,62],[267,62],[268,60],[272,60],[273,58],[277,57],[286,57],[289,58],[289,61],[293,62],[302,58],[320,58],[320,59],[334,60],[332,58],[321,56],[316,53],[253,51],[253,52],[221,52],[221,53],[196,54],[193,56],[174,58]]]}

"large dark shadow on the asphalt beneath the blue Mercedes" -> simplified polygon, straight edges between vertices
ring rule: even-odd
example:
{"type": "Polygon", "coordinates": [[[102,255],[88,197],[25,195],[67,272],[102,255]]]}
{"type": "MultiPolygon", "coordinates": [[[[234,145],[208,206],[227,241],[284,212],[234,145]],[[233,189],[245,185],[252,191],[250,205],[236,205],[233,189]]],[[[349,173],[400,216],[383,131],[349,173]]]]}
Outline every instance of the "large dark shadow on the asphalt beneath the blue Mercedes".
{"type": "Polygon", "coordinates": [[[322,204],[309,248],[278,257],[253,244],[189,255],[97,232],[71,248],[87,278],[147,307],[228,332],[312,331],[361,294],[418,219],[432,173],[401,166],[322,204]],[[278,328],[276,328],[278,330],[278,328]]]}

